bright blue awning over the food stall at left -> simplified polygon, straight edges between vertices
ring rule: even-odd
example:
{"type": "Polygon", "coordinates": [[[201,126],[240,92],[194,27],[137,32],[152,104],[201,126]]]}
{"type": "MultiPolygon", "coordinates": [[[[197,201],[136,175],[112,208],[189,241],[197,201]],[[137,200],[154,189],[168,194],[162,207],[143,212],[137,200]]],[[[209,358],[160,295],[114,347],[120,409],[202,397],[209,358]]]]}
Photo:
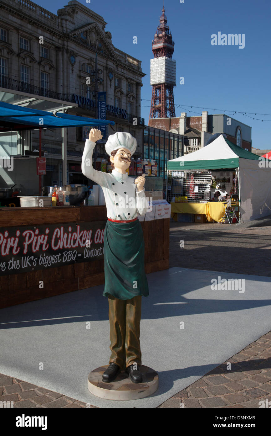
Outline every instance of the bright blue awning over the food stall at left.
{"type": "Polygon", "coordinates": [[[46,112],[37,109],[11,105],[0,102],[0,132],[22,129],[38,129],[39,127],[57,129],[59,127],[80,126],[114,126],[114,121],[93,119],[82,116],[69,115],[62,112],[46,112]]]}

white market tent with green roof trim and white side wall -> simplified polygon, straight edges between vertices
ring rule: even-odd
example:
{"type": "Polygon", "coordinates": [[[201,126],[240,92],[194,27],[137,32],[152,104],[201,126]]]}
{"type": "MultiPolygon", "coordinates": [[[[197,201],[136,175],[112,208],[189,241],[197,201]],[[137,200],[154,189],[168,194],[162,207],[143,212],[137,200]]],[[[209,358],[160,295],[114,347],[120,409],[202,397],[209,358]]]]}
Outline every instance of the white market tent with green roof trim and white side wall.
{"type": "Polygon", "coordinates": [[[233,169],[239,181],[241,222],[271,215],[271,161],[231,143],[222,134],[209,145],[167,161],[167,170],[233,169]]]}

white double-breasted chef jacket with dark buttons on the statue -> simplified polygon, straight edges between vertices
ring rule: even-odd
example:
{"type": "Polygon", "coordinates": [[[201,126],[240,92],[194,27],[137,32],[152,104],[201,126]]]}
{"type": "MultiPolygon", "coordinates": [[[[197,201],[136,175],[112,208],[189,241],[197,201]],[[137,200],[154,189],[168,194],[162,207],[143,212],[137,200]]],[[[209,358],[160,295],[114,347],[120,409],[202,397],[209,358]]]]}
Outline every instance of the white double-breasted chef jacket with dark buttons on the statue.
{"type": "Polygon", "coordinates": [[[104,192],[107,217],[114,220],[129,221],[137,215],[146,213],[146,196],[144,188],[137,191],[134,179],[128,173],[121,174],[117,170],[112,173],[94,170],[92,153],[95,142],[86,140],[82,156],[82,173],[102,187],[104,192]],[[142,199],[142,200],[141,200],[142,199]]]}

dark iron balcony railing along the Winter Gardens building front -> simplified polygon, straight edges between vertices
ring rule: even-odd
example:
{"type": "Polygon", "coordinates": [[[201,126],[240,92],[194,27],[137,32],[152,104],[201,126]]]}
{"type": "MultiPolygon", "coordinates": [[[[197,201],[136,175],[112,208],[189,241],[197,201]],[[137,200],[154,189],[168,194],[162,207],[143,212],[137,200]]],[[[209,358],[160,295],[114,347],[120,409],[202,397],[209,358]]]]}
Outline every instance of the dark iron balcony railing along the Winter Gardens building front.
{"type": "MultiPolygon", "coordinates": [[[[15,79],[11,79],[9,77],[0,75],[0,88],[9,89],[13,91],[25,92],[27,94],[37,95],[39,97],[47,97],[48,99],[55,99],[69,103],[78,103],[75,100],[75,94],[60,94],[60,92],[50,91],[49,89],[40,88],[39,86],[30,85],[30,83],[20,82],[15,79]]],[[[80,107],[83,109],[87,109],[88,111],[95,111],[95,100],[90,100],[90,104],[80,104],[80,107]]],[[[112,114],[112,112],[107,110],[107,113],[110,116],[114,116],[117,118],[122,118],[121,114],[112,114]]],[[[127,113],[127,118],[125,121],[128,123],[133,123],[134,118],[137,119],[137,126],[144,126],[145,120],[140,116],[135,116],[130,113],[127,113]]]]}

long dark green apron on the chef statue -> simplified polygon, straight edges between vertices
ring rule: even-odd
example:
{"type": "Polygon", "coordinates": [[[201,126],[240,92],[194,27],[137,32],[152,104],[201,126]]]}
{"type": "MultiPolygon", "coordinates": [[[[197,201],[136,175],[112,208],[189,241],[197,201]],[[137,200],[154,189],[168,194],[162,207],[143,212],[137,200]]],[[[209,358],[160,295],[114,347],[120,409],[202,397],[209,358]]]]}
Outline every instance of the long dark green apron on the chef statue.
{"type": "Polygon", "coordinates": [[[103,296],[119,300],[149,295],[144,268],[144,238],[140,221],[108,221],[104,232],[103,296]]]}

